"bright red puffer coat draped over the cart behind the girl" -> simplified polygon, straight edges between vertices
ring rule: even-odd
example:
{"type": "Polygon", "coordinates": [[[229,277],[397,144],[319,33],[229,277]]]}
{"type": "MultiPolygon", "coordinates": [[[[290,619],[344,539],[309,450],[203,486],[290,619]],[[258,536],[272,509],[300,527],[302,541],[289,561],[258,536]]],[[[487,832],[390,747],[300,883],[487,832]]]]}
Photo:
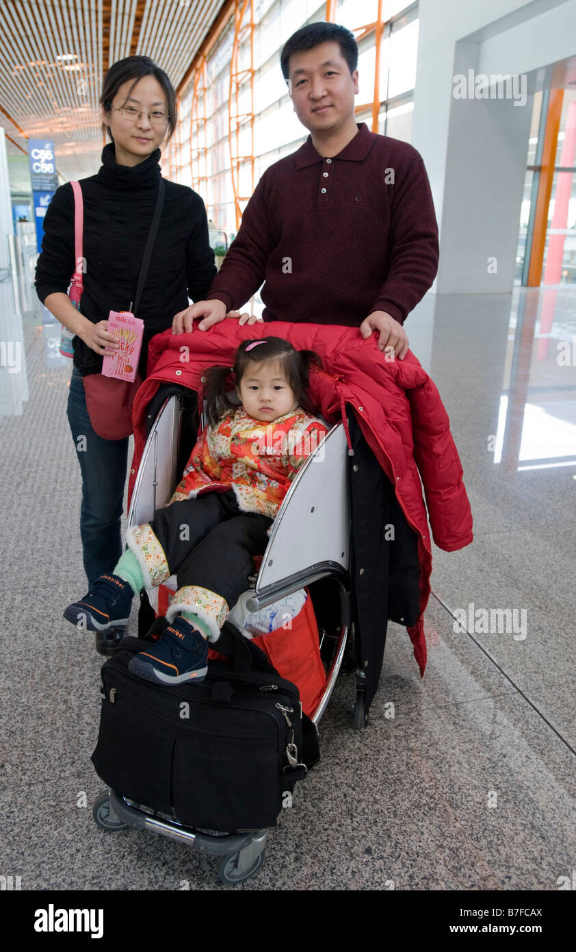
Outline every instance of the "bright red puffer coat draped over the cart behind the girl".
{"type": "Polygon", "coordinates": [[[282,337],[298,350],[317,352],[326,369],[311,371],[309,396],[316,403],[315,412],[329,423],[342,419],[346,426],[346,408],[352,407],[364,439],[395,486],[396,499],[418,540],[420,615],[408,631],[423,674],[422,616],[430,596],[432,548],[420,478],[436,545],[446,551],[469,545],[472,518],[448,414],[412,351],[403,361],[387,360],[377,347],[377,334],[364,340],[357,327],[335,325],[274,322],[240,327],[229,319],[206,331],[197,327],[190,334],[177,336],[171,330],[158,334],[149,344],[149,376],[134,402],[129,494],[144,450],[145,410],[161,383],[199,390],[207,367],[232,365],[241,341],[266,335],[282,337]]]}

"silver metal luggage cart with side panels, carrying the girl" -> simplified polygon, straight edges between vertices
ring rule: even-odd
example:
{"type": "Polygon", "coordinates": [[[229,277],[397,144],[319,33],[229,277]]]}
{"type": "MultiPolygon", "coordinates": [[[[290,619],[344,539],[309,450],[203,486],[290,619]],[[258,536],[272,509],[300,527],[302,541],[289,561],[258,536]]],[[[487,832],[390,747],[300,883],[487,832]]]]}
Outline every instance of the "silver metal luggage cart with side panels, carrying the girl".
{"type": "MultiPolygon", "coordinates": [[[[154,406],[150,405],[148,435],[128,512],[129,526],[149,521],[154,510],[168,502],[178,484],[193,446],[194,423],[198,421],[195,398],[196,394],[186,387],[164,385],[156,394],[154,406]]],[[[250,591],[240,597],[248,610],[256,613],[307,586],[325,671],[323,689],[314,709],[309,711],[315,728],[336,684],[349,636],[354,641],[348,446],[341,422],[327,428],[326,437],[300,468],[282,501],[258,574],[251,576],[250,591]],[[300,537],[292,526],[304,524],[310,526],[310,531],[300,537]]],[[[141,607],[141,630],[147,630],[149,621],[150,615],[141,607]]],[[[350,646],[347,654],[350,658],[350,646]]],[[[367,721],[364,691],[363,675],[356,665],[357,728],[367,721]]],[[[106,790],[98,797],[92,813],[103,829],[148,829],[220,857],[218,875],[222,883],[243,882],[263,861],[266,829],[215,835],[179,823],[174,816],[160,814],[146,804],[134,803],[114,790],[106,790]]]]}

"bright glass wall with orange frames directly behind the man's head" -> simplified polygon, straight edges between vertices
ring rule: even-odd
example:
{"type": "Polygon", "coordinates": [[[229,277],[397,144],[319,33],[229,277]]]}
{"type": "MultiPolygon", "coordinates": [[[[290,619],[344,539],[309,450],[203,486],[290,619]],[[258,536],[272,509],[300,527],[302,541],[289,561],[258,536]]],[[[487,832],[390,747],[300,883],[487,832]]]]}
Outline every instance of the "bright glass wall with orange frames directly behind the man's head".
{"type": "MultiPolygon", "coordinates": [[[[204,199],[213,247],[229,244],[262,172],[295,151],[308,132],[298,122],[279,66],[282,44],[306,23],[326,18],[317,0],[253,0],[235,28],[234,4],[218,40],[182,90],[171,174],[204,199]],[[253,81],[250,81],[253,70],[253,81]]],[[[337,0],[335,22],[358,40],[356,121],[410,142],[418,42],[417,4],[383,0],[379,77],[375,80],[377,0],[337,0]],[[374,96],[375,93],[375,96],[374,96]]],[[[209,39],[208,39],[209,42],[209,39]]]]}

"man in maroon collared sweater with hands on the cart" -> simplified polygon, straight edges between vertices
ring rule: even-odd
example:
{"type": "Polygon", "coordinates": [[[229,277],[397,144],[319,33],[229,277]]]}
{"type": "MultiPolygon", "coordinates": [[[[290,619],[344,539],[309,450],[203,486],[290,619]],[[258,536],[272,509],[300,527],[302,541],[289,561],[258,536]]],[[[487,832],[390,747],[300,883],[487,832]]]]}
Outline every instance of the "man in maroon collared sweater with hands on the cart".
{"type": "MultiPolygon", "coordinates": [[[[342,324],[399,359],[402,324],[431,287],[438,231],[428,176],[407,143],[355,122],[354,35],[332,23],[298,30],[281,69],[310,136],[262,175],[206,301],[179,312],[175,333],[239,317],[259,289],[265,321],[342,324]]],[[[247,314],[240,323],[253,323],[247,314]]]]}

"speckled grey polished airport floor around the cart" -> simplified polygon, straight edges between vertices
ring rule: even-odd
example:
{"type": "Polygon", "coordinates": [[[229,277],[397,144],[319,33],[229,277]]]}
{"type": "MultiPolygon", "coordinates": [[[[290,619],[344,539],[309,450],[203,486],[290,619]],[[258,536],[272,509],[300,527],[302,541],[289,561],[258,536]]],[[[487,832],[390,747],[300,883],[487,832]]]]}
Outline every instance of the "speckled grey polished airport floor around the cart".
{"type": "Polygon", "coordinates": [[[354,676],[339,678],[322,760],[259,873],[236,886],[181,843],[92,820],[102,659],[62,618],[86,590],[69,369],[50,366],[50,331],[30,317],[25,367],[0,371],[2,872],[58,890],[554,891],[571,878],[575,306],[576,288],[516,288],[429,294],[409,317],[451,418],[474,542],[433,548],[425,677],[406,630],[390,625],[363,731],[354,676]],[[494,617],[484,630],[490,609],[515,609],[516,624],[498,631],[494,617]]]}

